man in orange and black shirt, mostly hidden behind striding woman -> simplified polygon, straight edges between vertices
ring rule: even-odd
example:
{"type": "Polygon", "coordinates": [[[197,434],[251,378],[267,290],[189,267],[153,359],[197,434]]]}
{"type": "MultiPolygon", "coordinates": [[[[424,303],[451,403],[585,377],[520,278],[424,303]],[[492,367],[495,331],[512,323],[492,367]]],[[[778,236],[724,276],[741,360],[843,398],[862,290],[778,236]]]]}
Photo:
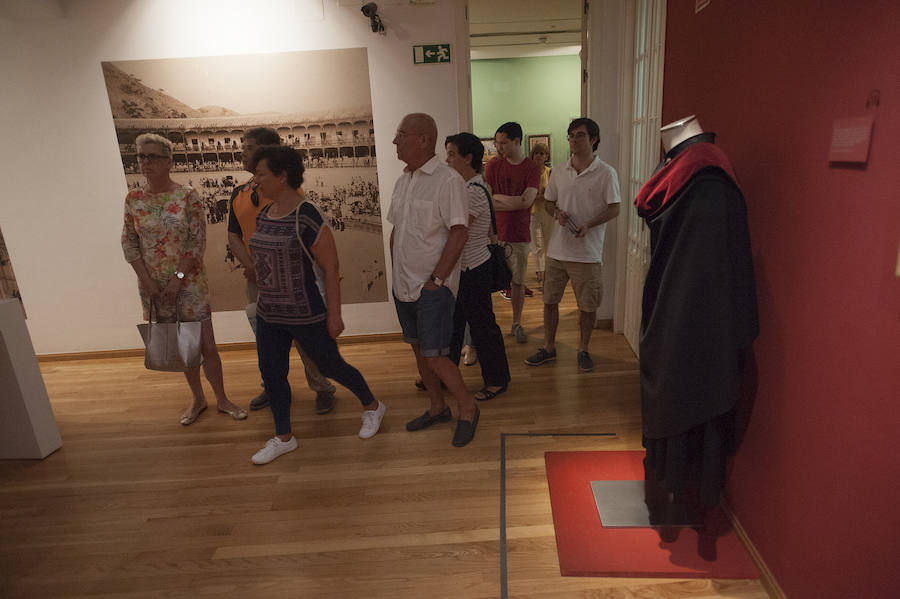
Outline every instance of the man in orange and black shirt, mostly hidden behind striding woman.
{"type": "MultiPolygon", "coordinates": [[[[281,137],[274,129],[256,127],[244,133],[244,145],[241,150],[241,162],[244,169],[249,171],[252,164],[253,152],[259,146],[280,145],[281,137]]],[[[247,319],[250,328],[256,334],[256,270],[253,267],[253,259],[250,257],[250,238],[256,231],[256,215],[269,205],[270,200],[259,195],[253,177],[243,185],[235,187],[231,194],[231,203],[228,211],[228,245],[235,258],[244,267],[244,277],[247,279],[247,319]]],[[[306,382],[309,388],[316,392],[316,413],[327,414],[334,408],[334,385],[322,376],[319,369],[300,349],[296,343],[297,353],[303,362],[306,371],[306,382]]],[[[262,393],[250,401],[251,410],[260,410],[269,405],[269,396],[265,388],[262,393]]]]}

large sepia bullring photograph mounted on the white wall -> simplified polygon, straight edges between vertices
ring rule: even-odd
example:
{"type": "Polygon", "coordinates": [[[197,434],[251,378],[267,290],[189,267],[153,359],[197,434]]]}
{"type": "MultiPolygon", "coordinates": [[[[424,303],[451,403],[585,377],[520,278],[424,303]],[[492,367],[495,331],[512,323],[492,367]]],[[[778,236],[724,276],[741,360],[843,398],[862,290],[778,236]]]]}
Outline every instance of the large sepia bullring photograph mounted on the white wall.
{"type": "Polygon", "coordinates": [[[385,302],[375,125],[365,48],[102,63],[128,189],[144,185],[135,139],[174,145],[172,179],[206,212],[204,264],[213,311],[247,303],[228,247],[229,199],[251,178],[244,133],[278,132],[303,157],[302,189],[334,230],[344,304],[385,302]]]}

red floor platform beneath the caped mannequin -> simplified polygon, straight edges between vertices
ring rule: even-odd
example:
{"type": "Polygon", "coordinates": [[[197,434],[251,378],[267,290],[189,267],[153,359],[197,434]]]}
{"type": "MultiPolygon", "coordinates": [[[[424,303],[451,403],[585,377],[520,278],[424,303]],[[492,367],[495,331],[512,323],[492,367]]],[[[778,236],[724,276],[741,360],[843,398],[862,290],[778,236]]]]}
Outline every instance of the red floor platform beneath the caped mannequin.
{"type": "MultiPolygon", "coordinates": [[[[702,536],[677,530],[671,542],[653,528],[604,528],[592,480],[643,480],[643,451],[548,451],[544,454],[556,550],[563,576],[759,578],[726,516],[716,509],[702,536]],[[707,558],[714,558],[712,561],[707,558]]],[[[667,537],[670,538],[670,537],[667,537]]]]}

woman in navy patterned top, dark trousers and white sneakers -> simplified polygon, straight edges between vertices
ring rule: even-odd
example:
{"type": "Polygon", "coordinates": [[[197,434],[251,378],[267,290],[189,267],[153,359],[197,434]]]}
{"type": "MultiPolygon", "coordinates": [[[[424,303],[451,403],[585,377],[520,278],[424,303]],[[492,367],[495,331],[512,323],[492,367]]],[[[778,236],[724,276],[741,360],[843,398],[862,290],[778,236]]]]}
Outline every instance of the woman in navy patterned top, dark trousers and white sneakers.
{"type": "Polygon", "coordinates": [[[350,389],[362,402],[361,438],[378,432],[385,406],[338,352],[335,339],[344,330],[344,321],[337,248],[319,210],[300,192],[300,154],[286,146],[263,146],[253,155],[253,165],[260,192],[272,200],[256,217],[256,232],[250,239],[259,288],[256,350],[275,418],[275,437],[251,460],[267,464],[297,448],[291,433],[287,379],[294,341],[323,375],[350,389]]]}

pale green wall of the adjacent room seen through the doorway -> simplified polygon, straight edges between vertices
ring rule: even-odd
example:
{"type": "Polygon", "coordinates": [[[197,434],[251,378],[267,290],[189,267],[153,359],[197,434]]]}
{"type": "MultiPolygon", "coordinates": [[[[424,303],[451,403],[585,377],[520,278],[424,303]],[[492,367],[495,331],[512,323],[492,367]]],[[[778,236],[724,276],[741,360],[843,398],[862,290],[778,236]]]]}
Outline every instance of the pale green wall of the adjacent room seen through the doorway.
{"type": "Polygon", "coordinates": [[[540,56],[472,61],[472,120],[475,135],[493,137],[507,121],[528,136],[550,134],[550,162],[569,158],[566,128],[581,113],[581,59],[540,56]]]}

